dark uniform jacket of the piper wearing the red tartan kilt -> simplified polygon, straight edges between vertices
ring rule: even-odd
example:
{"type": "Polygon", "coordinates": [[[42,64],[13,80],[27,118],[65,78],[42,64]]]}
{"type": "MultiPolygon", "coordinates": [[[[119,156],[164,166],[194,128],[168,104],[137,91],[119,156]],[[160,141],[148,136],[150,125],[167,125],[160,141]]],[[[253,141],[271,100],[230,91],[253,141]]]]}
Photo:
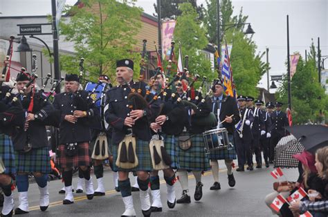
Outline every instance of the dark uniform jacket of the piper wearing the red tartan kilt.
{"type": "Polygon", "coordinates": [[[89,120],[99,119],[99,110],[92,103],[86,91],[76,93],[60,93],[55,95],[53,106],[60,110],[60,144],[73,142],[89,142],[91,128],[89,120]],[[86,111],[86,117],[79,117],[75,124],[64,119],[65,115],[73,115],[74,111],[86,111]]]}

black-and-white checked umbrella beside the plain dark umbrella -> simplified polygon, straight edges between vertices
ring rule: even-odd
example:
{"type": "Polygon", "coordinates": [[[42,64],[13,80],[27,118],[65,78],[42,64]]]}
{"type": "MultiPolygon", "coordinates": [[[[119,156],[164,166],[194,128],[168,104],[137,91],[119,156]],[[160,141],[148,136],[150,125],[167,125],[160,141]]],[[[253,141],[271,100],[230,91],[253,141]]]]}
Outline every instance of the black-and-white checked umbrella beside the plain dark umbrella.
{"type": "Polygon", "coordinates": [[[304,147],[293,135],[283,137],[275,147],[275,167],[297,168],[298,160],[293,155],[303,150],[304,147]]]}

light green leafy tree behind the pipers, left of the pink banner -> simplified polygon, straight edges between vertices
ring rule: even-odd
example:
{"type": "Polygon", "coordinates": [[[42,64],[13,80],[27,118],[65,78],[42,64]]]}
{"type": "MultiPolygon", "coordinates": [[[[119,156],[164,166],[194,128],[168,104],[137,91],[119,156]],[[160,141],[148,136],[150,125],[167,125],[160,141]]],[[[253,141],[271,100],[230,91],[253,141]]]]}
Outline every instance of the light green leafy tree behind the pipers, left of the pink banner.
{"type": "MultiPolygon", "coordinates": [[[[98,75],[115,76],[116,60],[131,58],[139,62],[134,53],[134,36],[140,29],[140,8],[132,6],[134,0],[121,3],[115,0],[82,0],[69,8],[69,21],[60,24],[61,35],[74,42],[77,55],[62,55],[60,63],[66,73],[78,73],[80,57],[85,59],[89,79],[98,75]]],[[[134,70],[138,70],[135,64],[134,70]]]]}

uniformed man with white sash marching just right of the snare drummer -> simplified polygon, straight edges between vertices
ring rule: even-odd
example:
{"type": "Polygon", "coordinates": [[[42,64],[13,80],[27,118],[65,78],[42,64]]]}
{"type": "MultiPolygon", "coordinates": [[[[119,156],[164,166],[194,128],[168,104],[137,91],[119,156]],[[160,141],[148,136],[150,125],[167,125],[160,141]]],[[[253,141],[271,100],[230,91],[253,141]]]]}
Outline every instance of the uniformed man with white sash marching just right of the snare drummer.
{"type": "Polygon", "coordinates": [[[250,125],[253,123],[254,116],[251,109],[246,108],[246,97],[239,95],[237,97],[239,113],[241,120],[236,126],[235,142],[237,146],[238,169],[236,171],[245,171],[244,164],[247,160],[248,169],[253,170],[252,151],[250,144],[253,140],[252,129],[250,125]]]}

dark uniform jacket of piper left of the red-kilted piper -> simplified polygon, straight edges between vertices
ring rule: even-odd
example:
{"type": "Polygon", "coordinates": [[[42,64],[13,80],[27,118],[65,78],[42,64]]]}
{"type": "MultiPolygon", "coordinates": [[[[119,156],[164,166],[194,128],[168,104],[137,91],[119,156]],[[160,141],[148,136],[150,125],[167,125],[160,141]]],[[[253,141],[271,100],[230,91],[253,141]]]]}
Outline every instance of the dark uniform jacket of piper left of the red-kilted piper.
{"type": "MultiPolygon", "coordinates": [[[[31,93],[28,93],[26,97],[22,97],[21,95],[18,96],[18,100],[21,102],[26,112],[30,105],[30,97],[31,93]]],[[[12,143],[14,144],[15,150],[23,150],[28,141],[33,148],[48,146],[48,135],[46,133],[46,124],[44,120],[53,112],[53,105],[48,101],[44,102],[45,97],[37,93],[35,93],[33,99],[34,106],[32,113],[37,115],[37,118],[29,122],[27,131],[24,131],[24,128],[21,127],[15,132],[15,135],[12,136],[12,143]]]]}

